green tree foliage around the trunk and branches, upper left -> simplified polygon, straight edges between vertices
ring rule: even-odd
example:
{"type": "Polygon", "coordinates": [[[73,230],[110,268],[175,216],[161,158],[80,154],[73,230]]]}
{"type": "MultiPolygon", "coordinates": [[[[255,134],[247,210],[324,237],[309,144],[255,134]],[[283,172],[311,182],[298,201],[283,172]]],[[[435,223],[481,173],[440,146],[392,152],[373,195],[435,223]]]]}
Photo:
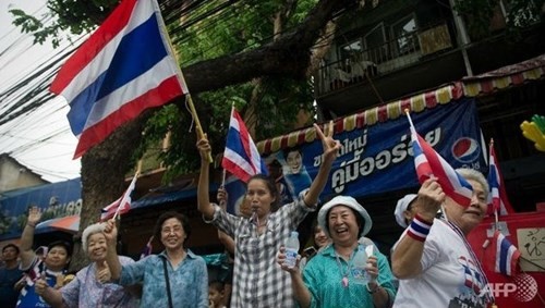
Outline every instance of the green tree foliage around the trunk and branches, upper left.
{"type": "MultiPolygon", "coordinates": [[[[12,14],[24,32],[35,35],[36,42],[43,44],[52,38],[53,45],[58,45],[63,32],[82,34],[92,30],[117,2],[49,0],[47,5],[50,11],[47,16],[36,19],[21,10],[12,10],[12,14]],[[55,22],[46,23],[45,20],[55,22]]],[[[317,0],[247,0],[228,3],[225,0],[211,0],[199,2],[183,16],[170,16],[172,22],[167,26],[175,50],[180,53],[178,56],[183,70],[183,66],[196,62],[244,52],[270,42],[278,12],[290,12],[281,21],[281,28],[287,32],[296,26],[316,2],[317,0]],[[221,10],[214,11],[221,5],[225,5],[221,10]],[[210,15],[209,12],[213,11],[216,13],[210,15]]],[[[293,128],[299,110],[313,111],[312,85],[307,81],[267,77],[257,84],[258,99],[256,106],[251,108],[257,119],[256,140],[286,134],[293,128]]],[[[215,153],[223,151],[231,106],[234,104],[244,115],[255,86],[256,83],[252,82],[193,96],[203,130],[207,133],[215,153]]],[[[145,152],[152,152],[168,168],[166,181],[180,173],[197,170],[199,158],[195,149],[196,134],[194,128],[190,132],[192,119],[183,103],[161,108],[146,125],[145,137],[133,153],[133,160],[145,152]],[[171,147],[164,151],[159,145],[167,132],[171,132],[171,147]]]]}

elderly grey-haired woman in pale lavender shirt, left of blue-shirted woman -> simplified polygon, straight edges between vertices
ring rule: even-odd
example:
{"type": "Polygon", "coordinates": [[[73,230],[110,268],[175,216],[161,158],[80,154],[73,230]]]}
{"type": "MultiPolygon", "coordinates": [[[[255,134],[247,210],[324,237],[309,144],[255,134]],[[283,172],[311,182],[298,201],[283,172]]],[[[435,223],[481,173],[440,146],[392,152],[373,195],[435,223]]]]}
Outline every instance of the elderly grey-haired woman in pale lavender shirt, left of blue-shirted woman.
{"type": "MultiPolygon", "coordinates": [[[[137,287],[132,289],[109,283],[110,270],[106,263],[106,223],[87,226],[82,235],[82,248],[92,263],[77,272],[75,279],[60,289],[50,287],[44,280],[36,282],[38,293],[52,307],[136,307],[137,287]]],[[[121,264],[134,263],[131,258],[119,256],[121,264]]]]}

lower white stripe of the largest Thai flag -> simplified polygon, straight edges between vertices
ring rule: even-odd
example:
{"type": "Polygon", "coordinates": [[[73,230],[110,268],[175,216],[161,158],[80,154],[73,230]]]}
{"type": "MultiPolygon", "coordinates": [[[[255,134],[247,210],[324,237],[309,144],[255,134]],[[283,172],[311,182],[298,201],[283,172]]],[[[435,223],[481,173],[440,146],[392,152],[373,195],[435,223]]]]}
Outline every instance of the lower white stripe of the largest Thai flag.
{"type": "Polygon", "coordinates": [[[85,128],[92,127],[108,118],[111,113],[118,111],[123,104],[129,103],[131,100],[142,96],[143,93],[155,88],[154,83],[150,83],[150,81],[160,83],[160,81],[164,81],[172,75],[173,72],[171,61],[168,57],[166,57],[146,73],[129,82],[123,87],[116,89],[110,95],[97,100],[93,104],[93,109],[89,112],[89,116],[85,123],[85,128]]]}

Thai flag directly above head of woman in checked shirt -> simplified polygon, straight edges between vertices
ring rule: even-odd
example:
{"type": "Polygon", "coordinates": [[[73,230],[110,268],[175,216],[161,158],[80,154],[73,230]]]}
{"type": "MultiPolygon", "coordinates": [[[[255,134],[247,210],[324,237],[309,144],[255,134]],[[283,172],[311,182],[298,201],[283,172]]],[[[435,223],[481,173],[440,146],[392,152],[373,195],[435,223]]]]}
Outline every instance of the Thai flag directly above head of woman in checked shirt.
{"type": "Polygon", "coordinates": [[[246,183],[252,175],[268,174],[252,136],[239,112],[232,108],[221,167],[246,183]]]}

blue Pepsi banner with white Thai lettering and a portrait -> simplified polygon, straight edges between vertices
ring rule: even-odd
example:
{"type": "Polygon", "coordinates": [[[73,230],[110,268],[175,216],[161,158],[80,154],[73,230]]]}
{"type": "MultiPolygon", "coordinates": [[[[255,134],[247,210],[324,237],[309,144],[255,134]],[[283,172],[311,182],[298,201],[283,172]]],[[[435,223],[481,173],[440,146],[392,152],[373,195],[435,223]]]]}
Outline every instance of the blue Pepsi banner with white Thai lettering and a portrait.
{"type": "MultiPolygon", "coordinates": [[[[411,113],[416,132],[453,168],[486,169],[474,99],[460,99],[411,113]]],[[[352,197],[416,187],[411,135],[407,116],[334,135],[341,144],[323,197],[352,197]]],[[[267,156],[281,165],[277,183],[294,198],[307,188],[322,163],[322,141],[281,149],[267,156]]]]}

